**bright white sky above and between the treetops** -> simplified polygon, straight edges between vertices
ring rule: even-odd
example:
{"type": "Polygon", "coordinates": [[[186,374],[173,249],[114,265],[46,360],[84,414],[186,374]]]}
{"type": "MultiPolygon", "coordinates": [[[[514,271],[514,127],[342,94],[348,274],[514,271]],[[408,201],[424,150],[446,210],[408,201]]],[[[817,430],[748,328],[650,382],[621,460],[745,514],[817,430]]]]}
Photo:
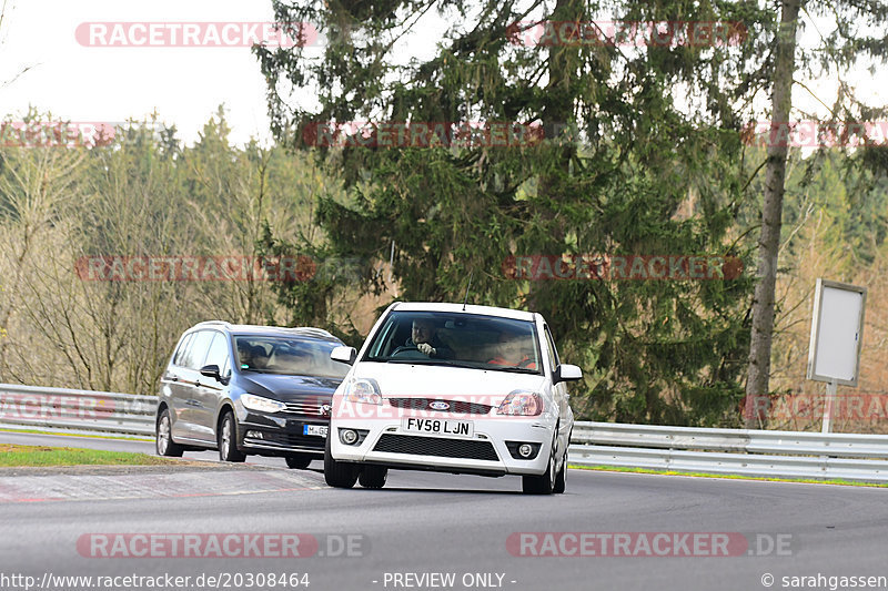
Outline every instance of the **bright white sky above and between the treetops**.
{"type": "MultiPolygon", "coordinates": [[[[224,103],[234,143],[250,137],[270,141],[265,82],[249,47],[89,47],[82,24],[269,22],[273,16],[269,0],[0,0],[0,6],[3,1],[0,116],[21,118],[29,105],[72,122],[117,123],[157,112],[162,123],[175,124],[179,137],[192,143],[224,103]]],[[[397,54],[430,53],[445,27],[425,24],[424,35],[405,38],[397,54]]],[[[807,42],[814,34],[809,27],[807,42]]],[[[110,33],[93,39],[113,41],[110,33]]],[[[874,79],[861,70],[848,78],[862,98],[885,104],[888,86],[877,83],[884,72],[874,79]]],[[[827,104],[835,100],[835,80],[809,81],[808,86],[827,104]]],[[[302,93],[302,101],[311,101],[307,91],[302,93]]],[[[794,102],[823,112],[799,86],[794,89],[794,102]]]]}

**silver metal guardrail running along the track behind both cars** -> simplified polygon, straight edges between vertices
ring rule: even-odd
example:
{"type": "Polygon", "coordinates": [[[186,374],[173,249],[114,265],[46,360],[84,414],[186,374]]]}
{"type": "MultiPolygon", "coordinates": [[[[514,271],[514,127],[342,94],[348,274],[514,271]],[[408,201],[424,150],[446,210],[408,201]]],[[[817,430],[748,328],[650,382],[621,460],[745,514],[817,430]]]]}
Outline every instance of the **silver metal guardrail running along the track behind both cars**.
{"type": "MultiPolygon", "coordinates": [[[[0,425],[154,436],[157,398],[0,384],[0,425]]],[[[888,436],[574,425],[571,463],[760,477],[888,482],[888,436]]]]}

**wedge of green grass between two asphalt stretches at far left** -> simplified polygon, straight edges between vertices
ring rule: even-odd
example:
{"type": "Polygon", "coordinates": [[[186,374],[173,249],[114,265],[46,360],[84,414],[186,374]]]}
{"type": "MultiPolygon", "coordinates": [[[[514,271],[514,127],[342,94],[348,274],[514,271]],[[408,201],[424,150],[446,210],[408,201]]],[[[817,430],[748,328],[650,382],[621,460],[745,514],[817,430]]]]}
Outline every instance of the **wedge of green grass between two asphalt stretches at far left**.
{"type": "Polygon", "coordinates": [[[167,466],[180,460],[71,447],[13,446],[0,444],[0,468],[23,466],[167,466]]]}

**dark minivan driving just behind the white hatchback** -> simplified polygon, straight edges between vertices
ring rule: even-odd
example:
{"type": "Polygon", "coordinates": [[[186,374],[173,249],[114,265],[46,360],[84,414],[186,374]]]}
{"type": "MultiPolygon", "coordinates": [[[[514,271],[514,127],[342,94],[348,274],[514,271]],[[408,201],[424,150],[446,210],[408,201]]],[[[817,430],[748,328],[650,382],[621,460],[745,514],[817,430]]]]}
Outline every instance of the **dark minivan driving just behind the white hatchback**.
{"type": "Polygon", "coordinates": [[[218,449],[223,461],[281,456],[306,468],[324,455],[333,391],[349,365],[320,328],[200,323],[179,339],[160,379],[157,450],[218,449]]]}

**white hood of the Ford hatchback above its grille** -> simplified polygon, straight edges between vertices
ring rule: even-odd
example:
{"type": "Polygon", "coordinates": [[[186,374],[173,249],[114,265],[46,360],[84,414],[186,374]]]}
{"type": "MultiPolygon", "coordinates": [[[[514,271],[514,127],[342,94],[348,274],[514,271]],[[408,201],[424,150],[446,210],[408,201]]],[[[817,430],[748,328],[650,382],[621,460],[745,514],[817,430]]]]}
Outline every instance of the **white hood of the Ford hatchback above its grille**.
{"type": "Polygon", "coordinates": [[[513,390],[541,391],[544,376],[422,364],[362,363],[354,376],[373,378],[383,398],[485,397],[496,404],[513,390]]]}

